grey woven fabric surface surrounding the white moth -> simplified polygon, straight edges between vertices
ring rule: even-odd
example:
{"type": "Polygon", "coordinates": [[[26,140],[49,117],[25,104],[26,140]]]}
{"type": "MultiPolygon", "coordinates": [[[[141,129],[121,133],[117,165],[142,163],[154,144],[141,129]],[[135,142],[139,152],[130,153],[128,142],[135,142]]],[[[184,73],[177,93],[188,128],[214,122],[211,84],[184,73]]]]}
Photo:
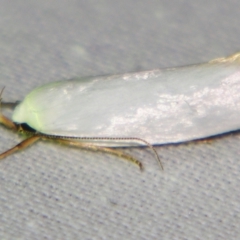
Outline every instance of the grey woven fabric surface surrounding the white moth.
{"type": "MultiPolygon", "coordinates": [[[[237,0],[0,1],[0,87],[172,67],[240,50],[237,0]]],[[[4,113],[10,112],[4,109],[4,113]]],[[[221,124],[221,123],[216,123],[221,124]]],[[[0,128],[0,151],[21,136],[0,128]]],[[[240,135],[100,152],[39,142],[0,162],[0,239],[239,239],[240,135]]]]}

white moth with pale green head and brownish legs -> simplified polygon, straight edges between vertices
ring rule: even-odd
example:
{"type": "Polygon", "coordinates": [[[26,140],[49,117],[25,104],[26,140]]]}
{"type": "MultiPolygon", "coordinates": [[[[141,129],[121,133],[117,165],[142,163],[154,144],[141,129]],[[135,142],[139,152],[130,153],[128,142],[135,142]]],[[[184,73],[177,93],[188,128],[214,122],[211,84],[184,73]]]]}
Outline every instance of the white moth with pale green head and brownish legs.
{"type": "Polygon", "coordinates": [[[141,167],[109,147],[152,147],[237,130],[239,109],[240,53],[185,67],[53,82],[30,92],[12,121],[0,115],[10,128],[35,131],[0,158],[42,138],[101,146],[141,167]]]}

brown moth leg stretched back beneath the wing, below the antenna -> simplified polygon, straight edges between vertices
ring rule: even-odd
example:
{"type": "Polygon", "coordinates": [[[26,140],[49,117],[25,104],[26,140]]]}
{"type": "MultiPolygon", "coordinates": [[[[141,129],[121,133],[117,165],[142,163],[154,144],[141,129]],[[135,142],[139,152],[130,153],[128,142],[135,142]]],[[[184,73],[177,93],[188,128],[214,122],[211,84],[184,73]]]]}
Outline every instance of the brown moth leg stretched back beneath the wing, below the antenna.
{"type": "MultiPolygon", "coordinates": [[[[45,139],[51,139],[51,138],[45,138],[45,139]]],[[[96,146],[94,144],[91,143],[83,143],[83,142],[78,142],[78,141],[74,141],[71,139],[56,139],[59,143],[63,143],[69,146],[74,146],[74,147],[79,147],[79,148],[83,148],[83,149],[87,149],[87,150],[91,150],[91,151],[101,151],[101,152],[105,152],[105,153],[109,153],[112,155],[115,155],[117,157],[120,158],[124,158],[129,162],[132,162],[136,165],[138,165],[138,167],[140,168],[140,170],[143,170],[143,166],[142,163],[140,161],[138,161],[136,158],[132,157],[131,155],[128,155],[122,151],[116,150],[116,149],[112,149],[112,148],[106,148],[106,147],[100,147],[100,146],[96,146]]]]}

